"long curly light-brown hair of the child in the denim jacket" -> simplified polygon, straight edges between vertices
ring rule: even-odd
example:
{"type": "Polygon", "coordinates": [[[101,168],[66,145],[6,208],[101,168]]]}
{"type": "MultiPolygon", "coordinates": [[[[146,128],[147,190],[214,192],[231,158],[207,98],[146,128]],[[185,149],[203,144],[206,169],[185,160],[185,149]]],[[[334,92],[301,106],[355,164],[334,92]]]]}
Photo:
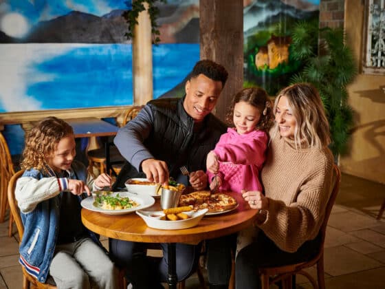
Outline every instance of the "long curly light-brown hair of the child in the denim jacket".
{"type": "Polygon", "coordinates": [[[45,160],[54,152],[58,142],[72,134],[74,130],[64,120],[54,116],[44,118],[25,138],[21,168],[45,169],[45,160]]]}

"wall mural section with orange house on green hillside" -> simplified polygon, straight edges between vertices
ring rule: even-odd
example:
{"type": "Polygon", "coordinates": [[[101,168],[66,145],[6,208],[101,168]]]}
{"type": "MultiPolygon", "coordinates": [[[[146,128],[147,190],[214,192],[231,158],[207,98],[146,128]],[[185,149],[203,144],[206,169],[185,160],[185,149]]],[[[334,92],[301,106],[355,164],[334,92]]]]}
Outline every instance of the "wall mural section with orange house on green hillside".
{"type": "Polygon", "coordinates": [[[290,56],[291,28],[318,19],[320,0],[243,1],[244,85],[275,95],[300,63],[290,56]]]}

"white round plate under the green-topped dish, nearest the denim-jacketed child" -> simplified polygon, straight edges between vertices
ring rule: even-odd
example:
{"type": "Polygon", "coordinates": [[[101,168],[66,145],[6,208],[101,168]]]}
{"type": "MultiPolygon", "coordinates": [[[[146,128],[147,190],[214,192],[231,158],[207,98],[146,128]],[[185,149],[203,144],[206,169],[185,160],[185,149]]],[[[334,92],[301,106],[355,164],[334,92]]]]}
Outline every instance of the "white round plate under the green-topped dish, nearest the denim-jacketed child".
{"type": "Polygon", "coordinates": [[[121,197],[129,197],[131,200],[134,200],[139,204],[133,208],[125,208],[124,210],[105,210],[104,208],[99,208],[94,206],[94,197],[87,197],[87,199],[81,202],[83,208],[87,208],[90,211],[99,212],[107,215],[123,215],[127,213],[132,213],[137,210],[142,210],[143,208],[148,208],[155,203],[155,200],[150,195],[133,195],[127,192],[115,192],[112,195],[119,194],[121,197]]]}

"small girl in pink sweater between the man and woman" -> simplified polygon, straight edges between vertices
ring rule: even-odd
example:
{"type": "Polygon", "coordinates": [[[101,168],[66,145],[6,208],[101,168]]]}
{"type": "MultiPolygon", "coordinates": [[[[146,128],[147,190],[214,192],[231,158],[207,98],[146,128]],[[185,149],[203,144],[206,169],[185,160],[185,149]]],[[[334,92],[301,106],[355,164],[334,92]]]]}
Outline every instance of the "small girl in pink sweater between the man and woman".
{"type": "Polygon", "coordinates": [[[265,90],[257,87],[238,92],[228,114],[234,123],[207,156],[212,191],[262,191],[259,180],[265,161],[267,131],[274,123],[272,103],[265,90]],[[253,189],[253,190],[254,190],[253,189]]]}

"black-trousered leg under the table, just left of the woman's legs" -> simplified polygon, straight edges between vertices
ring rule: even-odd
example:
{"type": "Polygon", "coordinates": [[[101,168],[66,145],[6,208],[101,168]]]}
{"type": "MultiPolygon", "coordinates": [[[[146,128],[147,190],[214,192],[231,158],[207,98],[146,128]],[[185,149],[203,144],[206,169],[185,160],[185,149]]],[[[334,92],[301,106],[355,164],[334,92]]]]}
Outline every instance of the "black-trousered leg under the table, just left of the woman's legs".
{"type": "Polygon", "coordinates": [[[231,276],[232,252],[236,234],[206,240],[208,282],[210,288],[228,288],[231,276]]]}

